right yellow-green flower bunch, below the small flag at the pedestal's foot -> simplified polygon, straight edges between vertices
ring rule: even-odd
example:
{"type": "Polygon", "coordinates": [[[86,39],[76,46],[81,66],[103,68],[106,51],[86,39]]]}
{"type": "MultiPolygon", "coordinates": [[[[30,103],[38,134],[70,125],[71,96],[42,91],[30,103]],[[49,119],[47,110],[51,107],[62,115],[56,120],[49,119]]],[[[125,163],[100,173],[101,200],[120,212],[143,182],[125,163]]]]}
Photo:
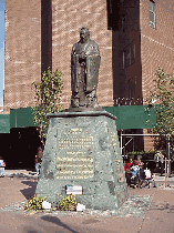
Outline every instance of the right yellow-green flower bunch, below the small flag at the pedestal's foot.
{"type": "Polygon", "coordinates": [[[75,202],[75,195],[68,195],[61,199],[59,202],[59,210],[60,211],[75,211],[78,203],[75,202]]]}

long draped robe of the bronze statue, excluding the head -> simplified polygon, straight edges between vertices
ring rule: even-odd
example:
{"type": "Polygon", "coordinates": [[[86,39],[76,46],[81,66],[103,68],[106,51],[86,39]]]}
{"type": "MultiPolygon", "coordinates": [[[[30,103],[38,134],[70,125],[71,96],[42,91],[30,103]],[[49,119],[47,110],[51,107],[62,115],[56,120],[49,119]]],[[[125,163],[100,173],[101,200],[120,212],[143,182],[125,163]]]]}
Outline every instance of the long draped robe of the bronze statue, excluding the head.
{"type": "Polygon", "coordinates": [[[79,41],[72,47],[71,90],[72,98],[79,98],[80,103],[85,102],[84,99],[88,93],[96,90],[100,61],[99,45],[93,40],[89,39],[86,43],[79,41]],[[80,59],[82,53],[85,53],[85,59],[83,60],[80,59]]]}

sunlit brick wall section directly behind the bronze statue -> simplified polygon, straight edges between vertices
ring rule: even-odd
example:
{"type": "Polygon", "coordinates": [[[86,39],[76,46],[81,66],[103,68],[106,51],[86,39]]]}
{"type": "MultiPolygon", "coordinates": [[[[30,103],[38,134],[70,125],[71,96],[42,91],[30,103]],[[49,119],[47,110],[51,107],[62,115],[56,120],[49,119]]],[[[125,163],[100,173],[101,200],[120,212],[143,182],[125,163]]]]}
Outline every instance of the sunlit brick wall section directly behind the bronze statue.
{"type": "Polygon", "coordinates": [[[64,108],[71,100],[71,49],[83,26],[89,27],[91,39],[100,47],[99,104],[113,105],[112,32],[108,30],[106,1],[53,0],[52,8],[52,68],[62,72],[64,108]]]}

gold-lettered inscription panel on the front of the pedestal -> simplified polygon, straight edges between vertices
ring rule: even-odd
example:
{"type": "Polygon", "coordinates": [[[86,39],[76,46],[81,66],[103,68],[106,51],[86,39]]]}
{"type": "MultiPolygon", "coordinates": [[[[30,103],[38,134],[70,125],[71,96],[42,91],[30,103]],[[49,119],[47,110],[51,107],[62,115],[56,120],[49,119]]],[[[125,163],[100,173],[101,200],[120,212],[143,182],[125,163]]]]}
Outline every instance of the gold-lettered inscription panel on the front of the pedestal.
{"type": "Polygon", "coordinates": [[[93,136],[86,134],[71,129],[58,140],[57,179],[93,178],[93,136]]]}

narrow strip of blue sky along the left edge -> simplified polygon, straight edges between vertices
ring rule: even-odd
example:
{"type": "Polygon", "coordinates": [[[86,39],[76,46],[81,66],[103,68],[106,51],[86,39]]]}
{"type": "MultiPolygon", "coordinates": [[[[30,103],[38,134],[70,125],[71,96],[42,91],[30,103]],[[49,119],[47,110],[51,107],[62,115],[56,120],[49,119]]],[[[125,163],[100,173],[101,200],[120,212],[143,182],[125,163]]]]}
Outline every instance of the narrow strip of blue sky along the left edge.
{"type": "Polygon", "coordinates": [[[3,105],[4,79],[4,0],[0,0],[0,105],[3,105]]]}

